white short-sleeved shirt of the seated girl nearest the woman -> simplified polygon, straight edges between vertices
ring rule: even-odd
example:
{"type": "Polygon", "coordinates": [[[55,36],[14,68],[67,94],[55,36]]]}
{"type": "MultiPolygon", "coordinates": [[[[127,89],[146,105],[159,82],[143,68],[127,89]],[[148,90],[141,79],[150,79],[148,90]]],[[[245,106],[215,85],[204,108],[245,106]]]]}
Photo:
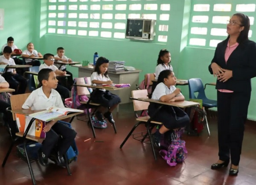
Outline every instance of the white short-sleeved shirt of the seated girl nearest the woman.
{"type": "MultiPolygon", "coordinates": [[[[154,89],[151,99],[160,100],[163,95],[172,94],[176,90],[174,85],[168,88],[163,82],[157,84],[157,87],[154,89]]],[[[175,97],[182,95],[181,93],[177,94],[175,97]]]]}

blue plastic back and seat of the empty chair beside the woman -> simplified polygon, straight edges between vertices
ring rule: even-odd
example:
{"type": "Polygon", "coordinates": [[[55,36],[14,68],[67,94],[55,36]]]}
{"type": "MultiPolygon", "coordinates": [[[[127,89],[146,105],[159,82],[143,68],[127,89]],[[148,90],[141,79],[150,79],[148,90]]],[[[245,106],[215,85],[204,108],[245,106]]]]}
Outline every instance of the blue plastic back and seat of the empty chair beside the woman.
{"type": "Polygon", "coordinates": [[[189,98],[202,99],[203,106],[207,108],[217,107],[216,100],[210,100],[206,97],[204,92],[204,84],[200,78],[189,79],[189,98]],[[198,95],[196,96],[195,93],[198,93],[198,95]]]}

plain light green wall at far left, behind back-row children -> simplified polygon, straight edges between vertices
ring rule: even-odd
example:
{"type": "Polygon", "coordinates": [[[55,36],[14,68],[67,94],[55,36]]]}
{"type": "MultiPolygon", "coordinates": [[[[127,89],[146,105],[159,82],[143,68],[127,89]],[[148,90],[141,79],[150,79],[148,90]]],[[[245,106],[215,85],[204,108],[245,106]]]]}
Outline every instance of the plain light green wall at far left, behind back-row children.
{"type": "Polygon", "coordinates": [[[0,47],[12,36],[19,49],[26,49],[27,43],[35,40],[35,22],[37,19],[35,0],[0,0],[0,9],[4,9],[4,28],[0,30],[0,47]]]}

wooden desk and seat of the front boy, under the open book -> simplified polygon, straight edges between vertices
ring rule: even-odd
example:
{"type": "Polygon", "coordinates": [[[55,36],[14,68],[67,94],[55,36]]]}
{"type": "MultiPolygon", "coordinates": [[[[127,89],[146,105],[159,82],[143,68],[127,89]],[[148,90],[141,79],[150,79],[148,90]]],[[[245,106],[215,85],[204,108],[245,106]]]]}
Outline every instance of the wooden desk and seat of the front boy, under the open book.
{"type": "MultiPolygon", "coordinates": [[[[29,114],[32,114],[32,113],[37,113],[37,112],[40,112],[40,111],[43,111],[43,110],[29,110],[29,109],[17,109],[17,110],[11,110],[12,113],[17,113],[17,114],[23,114],[25,116],[29,116],[29,114]]],[[[80,113],[72,113],[72,114],[69,114],[67,116],[60,116],[56,119],[53,119],[52,121],[59,121],[59,120],[62,120],[62,119],[66,119],[66,118],[74,118],[74,116],[78,115],[78,114],[81,114],[80,113]]],[[[72,119],[73,120],[73,119],[72,119]]],[[[30,175],[31,175],[31,178],[32,178],[32,182],[33,182],[33,185],[36,184],[35,182],[35,176],[34,176],[34,173],[33,173],[33,170],[32,170],[32,165],[31,165],[31,162],[30,162],[30,159],[29,159],[29,156],[27,154],[27,151],[26,151],[26,142],[27,142],[27,139],[29,140],[33,140],[33,141],[36,141],[36,142],[42,142],[44,139],[40,138],[40,137],[35,137],[35,136],[30,136],[28,135],[28,132],[29,132],[29,129],[30,127],[32,126],[32,123],[33,121],[35,121],[35,118],[32,118],[30,121],[29,121],[29,124],[28,124],[28,127],[26,128],[25,132],[20,132],[20,133],[16,133],[16,136],[19,136],[19,137],[16,137],[13,141],[12,141],[12,144],[11,146],[9,147],[9,150],[8,152],[6,153],[6,156],[3,160],[3,164],[2,164],[2,167],[5,166],[6,164],[6,161],[12,151],[12,147],[14,146],[15,142],[17,141],[17,139],[19,139],[20,137],[22,138],[23,140],[23,144],[24,144],[24,150],[25,150],[25,155],[26,155],[26,162],[28,163],[28,166],[29,166],[29,172],[30,172],[30,175]]],[[[67,165],[67,171],[69,174],[70,173],[70,169],[69,169],[69,166],[67,165]]]]}

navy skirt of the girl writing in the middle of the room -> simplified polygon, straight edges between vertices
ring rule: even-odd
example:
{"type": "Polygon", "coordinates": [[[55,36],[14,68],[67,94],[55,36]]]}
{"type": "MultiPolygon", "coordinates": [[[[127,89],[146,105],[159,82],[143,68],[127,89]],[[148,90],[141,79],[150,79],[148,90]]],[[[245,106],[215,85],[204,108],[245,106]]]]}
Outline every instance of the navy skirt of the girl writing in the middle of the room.
{"type": "Polygon", "coordinates": [[[94,103],[101,104],[103,107],[112,107],[113,105],[121,102],[118,95],[112,94],[108,90],[93,90],[93,92],[90,94],[90,98],[94,103]]]}

